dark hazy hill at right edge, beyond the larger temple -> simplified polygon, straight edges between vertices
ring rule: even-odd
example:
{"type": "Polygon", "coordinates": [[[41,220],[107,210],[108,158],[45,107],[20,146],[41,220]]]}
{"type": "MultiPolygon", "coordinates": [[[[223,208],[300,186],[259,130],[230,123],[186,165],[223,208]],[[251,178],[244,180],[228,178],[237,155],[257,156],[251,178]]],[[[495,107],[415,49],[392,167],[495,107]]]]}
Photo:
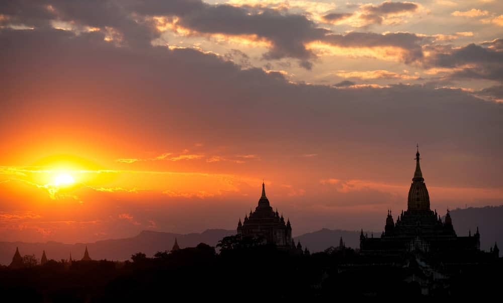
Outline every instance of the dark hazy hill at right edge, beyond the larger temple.
{"type": "Polygon", "coordinates": [[[489,250],[494,242],[503,246],[503,205],[456,208],[451,210],[452,224],[458,236],[480,232],[480,249],[489,250]]]}

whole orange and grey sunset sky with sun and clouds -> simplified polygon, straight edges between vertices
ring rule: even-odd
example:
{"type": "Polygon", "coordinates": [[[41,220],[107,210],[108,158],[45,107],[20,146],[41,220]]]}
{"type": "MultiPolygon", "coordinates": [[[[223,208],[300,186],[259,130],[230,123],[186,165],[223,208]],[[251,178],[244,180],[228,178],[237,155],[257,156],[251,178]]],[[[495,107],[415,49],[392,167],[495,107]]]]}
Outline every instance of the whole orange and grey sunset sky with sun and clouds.
{"type": "MultiPolygon", "coordinates": [[[[0,241],[381,231],[503,201],[503,3],[0,2],[0,241]],[[395,212],[396,211],[396,212],[395,212]]],[[[453,222],[456,225],[456,222],[453,222]]]]}

